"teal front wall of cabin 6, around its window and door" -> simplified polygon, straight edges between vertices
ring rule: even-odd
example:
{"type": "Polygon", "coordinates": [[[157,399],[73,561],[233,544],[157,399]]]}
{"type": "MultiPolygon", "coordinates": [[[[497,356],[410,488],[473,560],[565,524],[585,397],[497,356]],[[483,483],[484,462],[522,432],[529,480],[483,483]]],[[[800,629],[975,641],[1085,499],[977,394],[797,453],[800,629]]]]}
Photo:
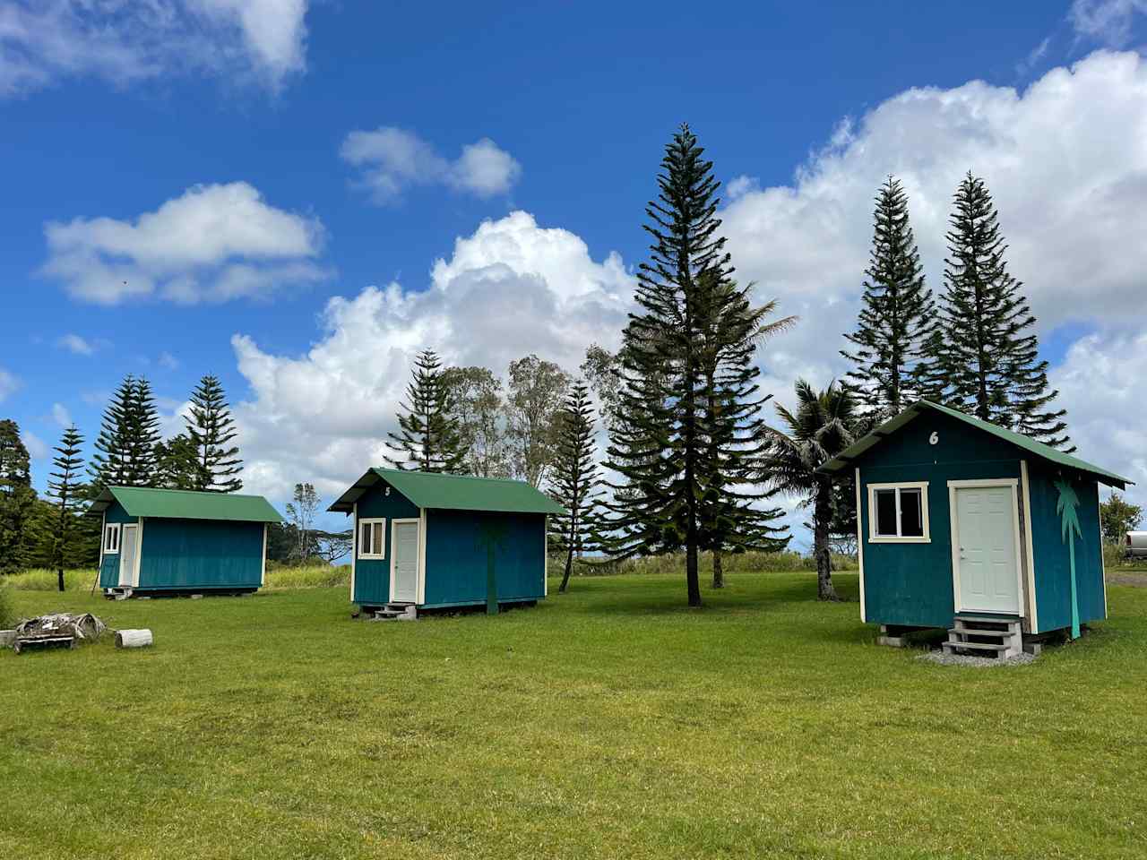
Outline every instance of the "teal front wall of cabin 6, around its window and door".
{"type": "Polygon", "coordinates": [[[955,612],[949,480],[1020,478],[1016,449],[960,421],[924,413],[861,456],[860,534],[865,618],[874,624],[945,627],[955,612]],[[930,437],[936,433],[936,444],[930,437]],[[868,485],[928,482],[928,544],[868,541],[868,485]]]}

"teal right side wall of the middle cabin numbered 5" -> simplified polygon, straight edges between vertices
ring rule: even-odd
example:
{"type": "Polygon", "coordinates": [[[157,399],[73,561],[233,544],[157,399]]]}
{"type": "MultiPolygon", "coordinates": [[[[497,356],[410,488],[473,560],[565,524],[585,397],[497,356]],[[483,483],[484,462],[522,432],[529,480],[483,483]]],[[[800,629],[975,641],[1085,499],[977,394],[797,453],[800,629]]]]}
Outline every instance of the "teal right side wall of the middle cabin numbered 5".
{"type": "Polygon", "coordinates": [[[485,603],[491,541],[498,601],[541,600],[545,539],[544,514],[428,510],[424,605],[485,603]]]}

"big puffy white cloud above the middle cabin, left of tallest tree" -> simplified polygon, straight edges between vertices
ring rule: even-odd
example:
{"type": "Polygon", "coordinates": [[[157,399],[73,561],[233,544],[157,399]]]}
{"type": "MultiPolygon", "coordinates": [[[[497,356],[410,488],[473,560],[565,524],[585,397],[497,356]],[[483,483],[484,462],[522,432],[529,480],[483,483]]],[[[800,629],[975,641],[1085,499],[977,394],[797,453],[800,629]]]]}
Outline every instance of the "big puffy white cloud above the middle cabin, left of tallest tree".
{"type": "Polygon", "coordinates": [[[299,480],[341,491],[382,461],[420,349],[498,372],[532,352],[576,372],[588,343],[616,346],[632,292],[619,257],[595,261],[578,236],[514,212],[458,239],[429,289],[391,283],[330,299],[323,337],[304,355],[268,354],[236,335],[253,392],[235,409],[243,479],[280,499],[299,480]]]}

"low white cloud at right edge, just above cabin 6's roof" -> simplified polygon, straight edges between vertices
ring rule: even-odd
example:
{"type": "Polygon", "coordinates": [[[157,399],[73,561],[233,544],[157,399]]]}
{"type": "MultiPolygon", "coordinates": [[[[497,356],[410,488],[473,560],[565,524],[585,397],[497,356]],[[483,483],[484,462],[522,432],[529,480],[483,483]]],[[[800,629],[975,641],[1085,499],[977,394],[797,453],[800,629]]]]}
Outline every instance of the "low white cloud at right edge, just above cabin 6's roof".
{"type": "Polygon", "coordinates": [[[1147,427],[1142,415],[1142,378],[1147,331],[1093,334],[1068,350],[1051,374],[1068,407],[1079,454],[1134,480],[1132,498],[1147,505],[1147,427]]]}

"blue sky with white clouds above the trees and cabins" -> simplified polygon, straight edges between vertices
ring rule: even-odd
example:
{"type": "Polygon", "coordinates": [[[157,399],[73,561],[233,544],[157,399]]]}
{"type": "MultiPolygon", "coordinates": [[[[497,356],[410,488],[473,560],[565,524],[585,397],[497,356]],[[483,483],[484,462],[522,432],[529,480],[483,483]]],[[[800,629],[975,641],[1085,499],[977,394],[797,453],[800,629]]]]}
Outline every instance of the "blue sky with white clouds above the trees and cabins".
{"type": "Polygon", "coordinates": [[[244,404],[249,488],[330,494],[377,458],[418,346],[572,368],[616,339],[661,148],[687,120],[738,180],[734,264],[804,320],[762,360],[779,397],[840,372],[880,178],[905,178],[938,289],[972,169],[1072,430],[1147,477],[1142,431],[1109,427],[1113,380],[1147,359],[1128,305],[1142,3],[665,7],[163,0],[161,19],[0,0],[0,414],[42,455],[62,419],[94,437],[125,373],[170,427],[216,373],[244,404]],[[1097,206],[1128,240],[1068,229],[1097,206]],[[547,308],[572,322],[531,315],[547,308]]]}

